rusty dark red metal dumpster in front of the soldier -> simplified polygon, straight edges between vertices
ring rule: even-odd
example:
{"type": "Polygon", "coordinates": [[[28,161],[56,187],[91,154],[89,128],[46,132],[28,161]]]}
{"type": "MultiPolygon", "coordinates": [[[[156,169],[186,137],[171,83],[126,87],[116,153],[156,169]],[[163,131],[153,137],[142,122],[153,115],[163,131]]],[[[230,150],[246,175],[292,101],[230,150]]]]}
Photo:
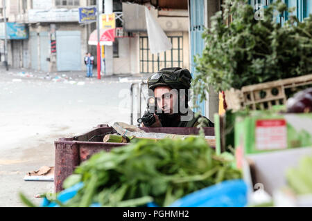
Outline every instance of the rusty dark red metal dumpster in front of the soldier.
{"type": "MultiPolygon", "coordinates": [[[[179,135],[197,135],[198,128],[147,128],[142,130],[150,133],[172,133],[179,135]]],[[[214,136],[214,128],[204,128],[205,135],[214,136]]],[[[89,159],[94,153],[99,151],[110,151],[112,148],[125,146],[128,144],[104,143],[103,134],[114,131],[107,124],[98,125],[92,131],[83,135],[60,138],[54,142],[55,145],[55,165],[54,184],[55,191],[62,191],[63,181],[73,173],[76,167],[83,161],[89,159]]]]}

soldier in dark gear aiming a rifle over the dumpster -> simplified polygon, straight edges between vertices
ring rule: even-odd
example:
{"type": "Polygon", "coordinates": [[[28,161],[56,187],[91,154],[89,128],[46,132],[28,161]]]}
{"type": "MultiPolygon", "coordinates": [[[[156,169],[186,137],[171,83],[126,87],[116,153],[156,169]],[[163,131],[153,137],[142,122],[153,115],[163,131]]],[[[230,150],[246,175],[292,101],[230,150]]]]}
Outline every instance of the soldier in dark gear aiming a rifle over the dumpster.
{"type": "MultiPolygon", "coordinates": [[[[191,79],[189,70],[182,68],[163,68],[150,76],[148,89],[155,102],[149,104],[148,111],[138,122],[147,127],[198,126],[202,116],[196,117],[188,106],[191,79]]],[[[213,127],[214,124],[207,119],[204,126],[213,127]]]]}

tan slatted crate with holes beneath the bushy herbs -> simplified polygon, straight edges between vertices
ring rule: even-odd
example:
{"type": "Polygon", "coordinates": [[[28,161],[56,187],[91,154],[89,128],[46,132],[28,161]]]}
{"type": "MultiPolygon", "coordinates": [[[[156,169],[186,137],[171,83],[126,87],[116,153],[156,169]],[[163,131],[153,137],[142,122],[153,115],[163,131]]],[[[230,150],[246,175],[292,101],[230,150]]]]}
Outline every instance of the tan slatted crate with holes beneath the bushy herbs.
{"type": "Polygon", "coordinates": [[[289,97],[286,90],[300,86],[312,86],[312,75],[303,75],[261,84],[243,86],[241,90],[225,90],[227,108],[234,111],[249,107],[250,110],[266,110],[273,105],[285,105],[289,97]]]}

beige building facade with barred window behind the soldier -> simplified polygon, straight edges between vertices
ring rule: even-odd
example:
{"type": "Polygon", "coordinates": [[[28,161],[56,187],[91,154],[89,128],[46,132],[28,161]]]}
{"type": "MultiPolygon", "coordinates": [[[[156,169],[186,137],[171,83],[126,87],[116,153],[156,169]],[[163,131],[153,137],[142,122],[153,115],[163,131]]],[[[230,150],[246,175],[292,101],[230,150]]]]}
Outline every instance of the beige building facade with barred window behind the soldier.
{"type": "Polygon", "coordinates": [[[189,68],[189,26],[187,10],[156,10],[149,8],[155,21],[164,30],[171,50],[158,54],[150,52],[144,6],[123,3],[123,30],[130,33],[130,37],[118,38],[120,45],[125,44],[123,51],[119,51],[119,59],[114,59],[114,73],[128,68],[129,73],[155,73],[162,68],[189,68]],[[128,52],[125,48],[129,48],[128,52]],[[127,64],[121,66],[120,64],[127,64]]]}

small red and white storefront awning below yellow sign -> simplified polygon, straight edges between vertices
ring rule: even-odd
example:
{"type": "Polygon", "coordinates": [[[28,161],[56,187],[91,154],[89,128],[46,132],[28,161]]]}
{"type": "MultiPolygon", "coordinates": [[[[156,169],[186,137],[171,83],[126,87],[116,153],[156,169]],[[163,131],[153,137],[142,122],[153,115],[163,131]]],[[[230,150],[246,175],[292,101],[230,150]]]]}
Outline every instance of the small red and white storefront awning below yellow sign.
{"type": "MultiPolygon", "coordinates": [[[[110,29],[101,29],[100,30],[100,45],[101,46],[112,46],[115,41],[115,28],[110,29]]],[[[96,46],[98,45],[98,32],[94,30],[88,41],[89,45],[96,46]]]]}

